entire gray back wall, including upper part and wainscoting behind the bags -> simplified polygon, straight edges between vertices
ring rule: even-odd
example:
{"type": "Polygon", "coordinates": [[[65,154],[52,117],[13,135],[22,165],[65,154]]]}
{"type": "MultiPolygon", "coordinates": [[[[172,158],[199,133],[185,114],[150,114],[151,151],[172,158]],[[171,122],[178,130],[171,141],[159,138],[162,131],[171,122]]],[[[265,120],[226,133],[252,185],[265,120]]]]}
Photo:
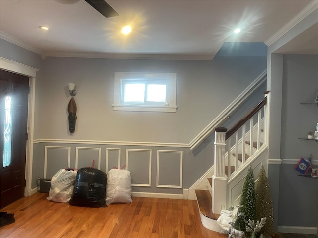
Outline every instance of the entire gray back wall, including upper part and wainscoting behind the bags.
{"type": "MultiPolygon", "coordinates": [[[[128,162],[132,183],[136,184],[133,191],[182,194],[182,189],[193,185],[213,164],[212,136],[195,151],[190,151],[188,143],[265,69],[266,57],[259,56],[220,56],[211,61],[48,57],[36,85],[32,187],[38,177],[51,177],[57,166],[64,168],[68,160],[70,167],[83,167],[91,166],[95,159],[103,171],[106,164],[108,169],[117,167],[120,160],[120,166],[128,162]],[[177,112],[113,111],[116,71],[176,72],[177,112]],[[74,134],[68,132],[67,125],[69,82],[77,85],[74,134]],[[134,142],[171,145],[141,146],[134,142]],[[107,150],[111,156],[107,157],[107,150]]],[[[264,86],[241,110],[255,106],[263,91],[264,86]]]]}

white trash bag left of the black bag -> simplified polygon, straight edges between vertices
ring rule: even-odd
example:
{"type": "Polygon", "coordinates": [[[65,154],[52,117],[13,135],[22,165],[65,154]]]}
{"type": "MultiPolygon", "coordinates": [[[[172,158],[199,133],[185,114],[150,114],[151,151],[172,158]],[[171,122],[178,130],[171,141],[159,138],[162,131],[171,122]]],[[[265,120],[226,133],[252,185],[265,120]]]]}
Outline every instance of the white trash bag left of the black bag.
{"type": "Polygon", "coordinates": [[[61,169],[51,179],[51,188],[47,199],[54,202],[69,202],[73,194],[77,172],[61,169]]]}

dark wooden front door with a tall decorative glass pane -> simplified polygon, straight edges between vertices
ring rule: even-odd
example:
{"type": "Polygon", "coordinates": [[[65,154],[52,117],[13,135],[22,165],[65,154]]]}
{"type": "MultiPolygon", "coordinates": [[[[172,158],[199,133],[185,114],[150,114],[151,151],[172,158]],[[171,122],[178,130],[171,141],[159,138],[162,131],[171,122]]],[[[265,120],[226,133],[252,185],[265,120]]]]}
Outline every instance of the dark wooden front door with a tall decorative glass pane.
{"type": "Polygon", "coordinates": [[[29,78],[0,70],[0,206],[22,198],[25,161],[29,78]]]}

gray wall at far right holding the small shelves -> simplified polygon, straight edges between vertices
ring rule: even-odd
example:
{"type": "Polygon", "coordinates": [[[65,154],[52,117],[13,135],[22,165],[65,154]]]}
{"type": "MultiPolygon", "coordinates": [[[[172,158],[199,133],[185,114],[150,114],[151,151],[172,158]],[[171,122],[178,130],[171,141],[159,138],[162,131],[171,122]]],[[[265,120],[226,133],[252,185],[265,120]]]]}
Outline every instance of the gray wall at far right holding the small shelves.
{"type": "Polygon", "coordinates": [[[318,179],[294,170],[300,157],[318,160],[318,143],[299,139],[318,123],[316,104],[300,104],[317,92],[318,55],[284,55],[278,225],[317,227],[318,179]]]}

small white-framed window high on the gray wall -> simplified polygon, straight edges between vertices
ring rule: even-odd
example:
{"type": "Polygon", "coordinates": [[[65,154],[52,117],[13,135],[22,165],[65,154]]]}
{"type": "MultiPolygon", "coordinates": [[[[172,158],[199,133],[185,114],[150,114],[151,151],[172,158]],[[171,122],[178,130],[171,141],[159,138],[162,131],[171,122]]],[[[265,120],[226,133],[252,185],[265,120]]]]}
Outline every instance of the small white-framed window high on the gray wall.
{"type": "Polygon", "coordinates": [[[176,73],[115,72],[115,111],[176,112],[176,73]]]}

